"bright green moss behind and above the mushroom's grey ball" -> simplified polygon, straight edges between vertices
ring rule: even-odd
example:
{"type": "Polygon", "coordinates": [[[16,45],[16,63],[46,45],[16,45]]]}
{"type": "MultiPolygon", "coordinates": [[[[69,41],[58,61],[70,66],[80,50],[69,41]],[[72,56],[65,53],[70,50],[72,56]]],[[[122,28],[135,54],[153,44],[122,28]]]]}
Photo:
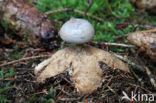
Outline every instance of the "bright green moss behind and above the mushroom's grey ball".
{"type": "MultiPolygon", "coordinates": [[[[36,7],[42,12],[61,8],[74,8],[82,11],[87,9],[87,5],[83,0],[39,0],[39,2],[36,7]]],[[[123,30],[117,30],[116,23],[125,22],[134,12],[134,8],[129,0],[110,0],[109,2],[108,0],[94,0],[88,13],[102,18],[105,22],[100,23],[90,17],[83,18],[88,19],[95,27],[96,34],[94,41],[113,42],[113,37],[129,33],[132,30],[130,26],[123,30]],[[113,20],[108,20],[110,16],[113,20]]],[[[71,16],[82,17],[82,15],[73,12],[55,13],[49,17],[55,21],[65,22],[71,16]]],[[[60,28],[60,26],[61,25],[58,25],[58,28],[60,28]]]]}

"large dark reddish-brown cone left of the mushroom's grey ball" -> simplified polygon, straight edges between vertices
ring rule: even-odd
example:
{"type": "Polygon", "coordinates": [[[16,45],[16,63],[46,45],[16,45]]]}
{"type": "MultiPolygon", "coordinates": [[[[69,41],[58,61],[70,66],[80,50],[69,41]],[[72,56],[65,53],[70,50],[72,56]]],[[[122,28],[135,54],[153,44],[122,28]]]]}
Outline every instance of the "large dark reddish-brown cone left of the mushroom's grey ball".
{"type": "MultiPolygon", "coordinates": [[[[6,27],[16,31],[20,37],[28,34],[28,42],[39,45],[39,38],[50,39],[54,37],[56,28],[54,24],[26,0],[1,0],[0,16],[6,27]]],[[[3,23],[2,23],[3,24],[3,23]]]]}

